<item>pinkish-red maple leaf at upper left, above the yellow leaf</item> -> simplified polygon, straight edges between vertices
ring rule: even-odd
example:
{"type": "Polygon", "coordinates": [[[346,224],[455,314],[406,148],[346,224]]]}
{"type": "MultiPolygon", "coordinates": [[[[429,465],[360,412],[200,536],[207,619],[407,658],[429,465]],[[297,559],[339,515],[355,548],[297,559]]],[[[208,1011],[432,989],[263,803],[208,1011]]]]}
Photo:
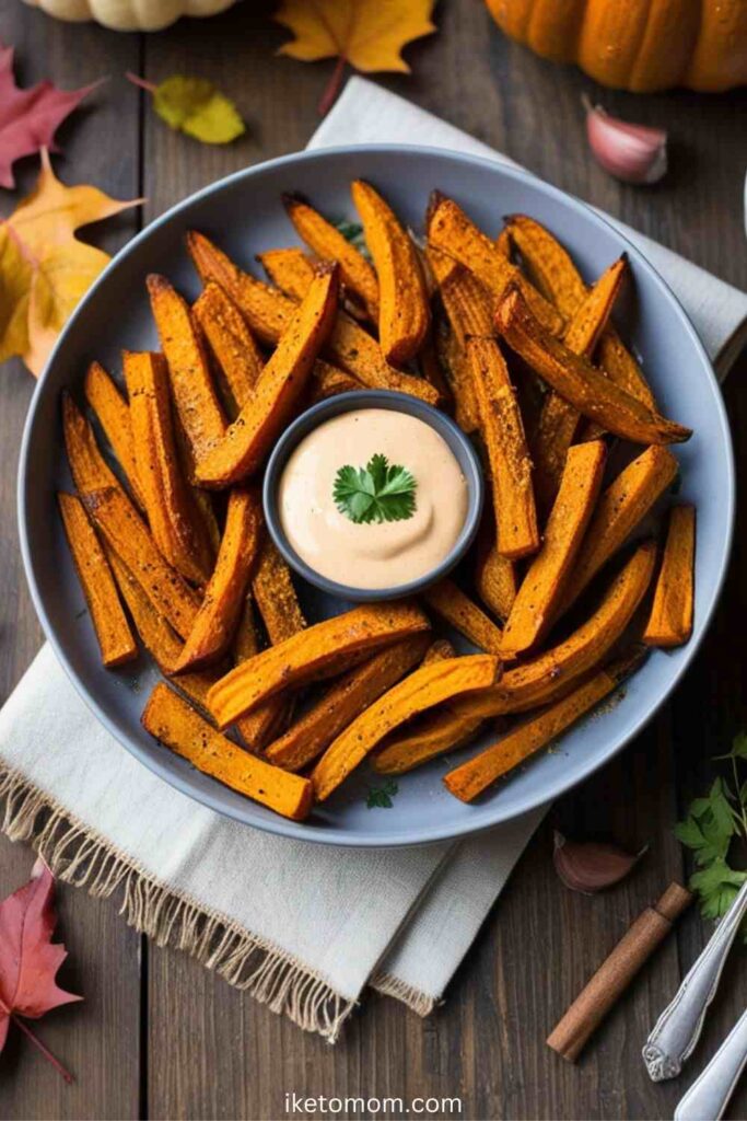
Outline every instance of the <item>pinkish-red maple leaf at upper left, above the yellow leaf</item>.
{"type": "Polygon", "coordinates": [[[19,90],[13,77],[13,48],[0,41],[0,187],[13,187],[12,165],[21,156],[55,147],[54,136],[68,113],[99,85],[81,90],[58,90],[52,82],[38,82],[19,90]]]}

